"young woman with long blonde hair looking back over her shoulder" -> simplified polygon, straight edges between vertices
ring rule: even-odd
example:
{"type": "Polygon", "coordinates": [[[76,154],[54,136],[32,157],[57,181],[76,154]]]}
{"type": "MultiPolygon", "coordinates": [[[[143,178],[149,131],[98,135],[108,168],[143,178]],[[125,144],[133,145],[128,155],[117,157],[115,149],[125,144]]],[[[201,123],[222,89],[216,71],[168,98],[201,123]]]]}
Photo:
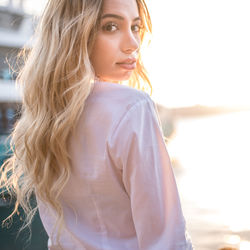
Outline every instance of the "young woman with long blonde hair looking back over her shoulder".
{"type": "Polygon", "coordinates": [[[144,0],[48,1],[18,77],[22,117],[1,186],[26,225],[35,193],[49,249],[192,249],[155,104],[140,85],[149,84],[146,31],[144,0]]]}

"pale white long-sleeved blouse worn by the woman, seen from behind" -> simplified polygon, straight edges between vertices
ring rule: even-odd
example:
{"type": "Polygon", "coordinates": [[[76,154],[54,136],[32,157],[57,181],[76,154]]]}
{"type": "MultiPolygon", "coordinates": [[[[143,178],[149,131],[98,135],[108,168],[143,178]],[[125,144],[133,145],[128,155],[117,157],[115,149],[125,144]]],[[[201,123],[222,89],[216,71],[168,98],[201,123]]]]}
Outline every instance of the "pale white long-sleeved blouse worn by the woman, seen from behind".
{"type": "MultiPolygon", "coordinates": [[[[143,91],[94,83],[69,141],[72,176],[61,196],[67,250],[189,250],[175,177],[154,102],[143,91]]],[[[57,246],[54,211],[38,201],[57,246]]]]}

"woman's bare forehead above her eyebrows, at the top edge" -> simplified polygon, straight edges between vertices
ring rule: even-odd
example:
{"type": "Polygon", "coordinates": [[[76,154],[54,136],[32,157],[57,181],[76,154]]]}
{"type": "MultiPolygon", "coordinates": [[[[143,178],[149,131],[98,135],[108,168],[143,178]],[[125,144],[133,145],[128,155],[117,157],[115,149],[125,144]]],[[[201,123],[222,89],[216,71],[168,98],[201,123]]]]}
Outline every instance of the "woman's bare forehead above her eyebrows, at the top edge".
{"type": "Polygon", "coordinates": [[[139,16],[136,0],[104,0],[103,14],[118,14],[131,18],[139,16]]]}

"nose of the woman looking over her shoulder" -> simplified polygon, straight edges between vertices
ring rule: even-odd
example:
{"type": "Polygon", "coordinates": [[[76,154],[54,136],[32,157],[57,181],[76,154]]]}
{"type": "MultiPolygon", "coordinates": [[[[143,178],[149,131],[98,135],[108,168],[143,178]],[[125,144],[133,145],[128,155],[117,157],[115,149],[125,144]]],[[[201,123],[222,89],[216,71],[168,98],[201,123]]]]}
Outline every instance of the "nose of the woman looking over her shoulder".
{"type": "Polygon", "coordinates": [[[131,54],[138,51],[140,48],[140,37],[137,33],[131,30],[126,32],[123,36],[122,51],[126,54],[131,54]]]}

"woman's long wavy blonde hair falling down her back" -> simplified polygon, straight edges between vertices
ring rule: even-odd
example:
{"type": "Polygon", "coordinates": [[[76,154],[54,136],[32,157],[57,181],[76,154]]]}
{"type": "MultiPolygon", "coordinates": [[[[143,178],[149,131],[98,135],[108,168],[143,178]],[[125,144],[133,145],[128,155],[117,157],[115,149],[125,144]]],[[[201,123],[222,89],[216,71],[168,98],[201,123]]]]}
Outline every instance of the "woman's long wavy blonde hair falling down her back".
{"type": "MultiPolygon", "coordinates": [[[[136,1],[144,26],[143,40],[145,32],[151,32],[151,21],[144,0],[136,1]]],[[[56,225],[62,227],[59,197],[71,174],[67,141],[93,87],[89,55],[102,2],[49,0],[32,50],[28,56],[22,52],[26,59],[17,78],[23,90],[22,115],[11,134],[14,153],[2,165],[0,179],[0,188],[16,198],[6,220],[19,205],[26,214],[21,230],[30,227],[37,211],[37,206],[30,204],[33,194],[57,212],[56,225]]],[[[141,57],[129,85],[143,90],[140,80],[151,88],[141,57]]]]}

